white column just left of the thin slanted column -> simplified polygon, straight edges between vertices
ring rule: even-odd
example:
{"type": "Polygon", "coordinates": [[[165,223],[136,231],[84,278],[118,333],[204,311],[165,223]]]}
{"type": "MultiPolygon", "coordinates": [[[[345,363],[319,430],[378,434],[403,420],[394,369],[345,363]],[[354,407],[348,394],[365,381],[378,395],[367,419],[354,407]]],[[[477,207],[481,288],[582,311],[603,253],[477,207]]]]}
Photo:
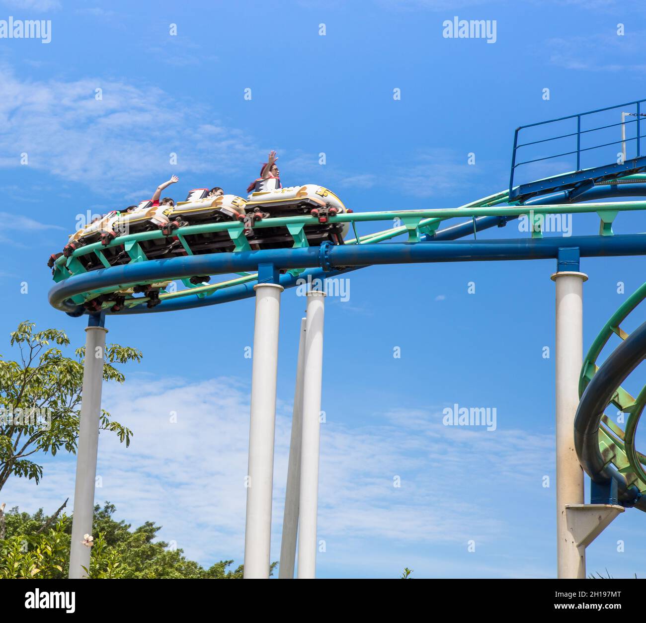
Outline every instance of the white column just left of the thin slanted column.
{"type": "Polygon", "coordinates": [[[253,334],[244,577],[269,578],[278,323],[282,285],[258,283],[253,334]]]}

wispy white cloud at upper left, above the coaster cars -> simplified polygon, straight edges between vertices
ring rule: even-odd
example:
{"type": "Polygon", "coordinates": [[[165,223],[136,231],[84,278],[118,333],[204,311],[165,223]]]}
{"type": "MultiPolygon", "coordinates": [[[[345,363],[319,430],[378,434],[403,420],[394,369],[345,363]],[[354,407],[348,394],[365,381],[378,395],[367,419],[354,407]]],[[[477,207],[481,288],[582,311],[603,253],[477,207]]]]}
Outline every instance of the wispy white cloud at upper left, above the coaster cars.
{"type": "Polygon", "coordinates": [[[69,181],[128,190],[151,172],[227,174],[256,148],[244,132],[160,88],[107,79],[34,81],[0,66],[0,167],[28,166],[69,181]],[[96,99],[96,89],[102,99],[96,99]],[[12,155],[14,154],[14,155],[12,155]]]}

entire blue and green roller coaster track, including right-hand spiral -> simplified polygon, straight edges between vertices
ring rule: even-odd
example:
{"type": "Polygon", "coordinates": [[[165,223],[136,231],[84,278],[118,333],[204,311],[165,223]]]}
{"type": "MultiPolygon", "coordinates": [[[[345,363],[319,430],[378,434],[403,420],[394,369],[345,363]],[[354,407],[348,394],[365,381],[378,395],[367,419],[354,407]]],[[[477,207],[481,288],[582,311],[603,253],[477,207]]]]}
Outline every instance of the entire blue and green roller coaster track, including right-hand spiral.
{"type": "MultiPolygon", "coordinates": [[[[625,179],[613,179],[605,185],[595,185],[576,198],[567,192],[552,192],[528,199],[520,205],[510,199],[508,191],[467,203],[458,208],[439,210],[404,210],[390,212],[358,212],[338,214],[330,222],[349,222],[355,238],[343,245],[322,243],[308,247],[300,235],[306,225],[317,223],[311,216],[295,216],[260,221],[256,227],[284,226],[294,237],[289,249],[245,250],[236,245],[236,251],[193,255],[185,244],[185,236],[223,231],[233,241],[240,238],[242,224],[238,222],[209,223],[180,228],[174,236],[182,241],[187,254],[163,260],[147,260],[139,242],[162,238],[160,231],[140,232],[120,236],[107,248],[123,245],[130,257],[127,264],[110,266],[103,257],[100,243],[76,249],[69,258],[61,257],[54,264],[56,285],[50,290],[50,304],[71,316],[88,313],[85,301],[103,295],[103,312],[111,314],[110,295],[137,285],[182,280],[185,289],[161,289],[159,305],[148,309],[143,303],[146,296],[129,296],[119,314],[176,311],[225,303],[253,296],[253,286],[274,281],[284,287],[297,285],[298,280],[326,278],[360,268],[379,264],[430,263],[443,261],[504,261],[554,258],[560,260],[563,249],[578,249],[578,256],[646,256],[646,234],[614,235],[612,223],[621,212],[646,210],[646,201],[614,201],[612,203],[582,203],[599,198],[621,199],[646,196],[646,175],[636,174],[625,179]],[[576,203],[575,203],[576,202],[576,203]],[[600,218],[598,236],[571,238],[543,238],[540,219],[548,214],[596,213],[600,218]],[[489,227],[503,227],[509,220],[521,215],[534,219],[530,238],[516,240],[457,240],[489,227]],[[439,229],[451,218],[468,217],[470,220],[439,229]],[[401,225],[357,235],[360,223],[399,220],[401,225]],[[404,242],[391,242],[398,236],[408,236],[404,242]],[[298,241],[300,240],[300,244],[298,241]],[[105,266],[85,271],[79,256],[94,253],[105,266]],[[192,276],[238,274],[238,277],[219,283],[195,285],[192,276]]],[[[578,261],[577,256],[577,261],[578,261]]],[[[630,336],[620,323],[646,298],[646,283],[621,305],[592,344],[581,370],[579,392],[581,402],[576,415],[576,450],[581,465],[590,478],[599,485],[616,482],[618,500],[625,506],[646,510],[646,456],[635,449],[638,421],[646,405],[646,387],[637,398],[621,388],[621,383],[646,356],[646,323],[630,336]],[[603,347],[612,334],[623,342],[605,362],[597,365],[603,347]],[[612,422],[603,412],[614,405],[629,414],[625,430],[612,422]]]]}

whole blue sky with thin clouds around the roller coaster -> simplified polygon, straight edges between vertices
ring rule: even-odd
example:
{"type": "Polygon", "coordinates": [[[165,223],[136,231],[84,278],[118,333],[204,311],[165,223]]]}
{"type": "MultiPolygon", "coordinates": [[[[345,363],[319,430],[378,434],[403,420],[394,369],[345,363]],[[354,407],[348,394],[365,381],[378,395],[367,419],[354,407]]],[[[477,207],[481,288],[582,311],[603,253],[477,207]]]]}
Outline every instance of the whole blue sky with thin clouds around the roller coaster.
{"type": "MultiPolygon", "coordinates": [[[[148,198],[171,174],[180,177],[176,199],[213,185],[244,194],[273,148],[284,184],[325,185],[355,211],[457,207],[506,188],[517,126],[646,96],[644,10],[612,0],[6,0],[0,19],[9,15],[50,19],[52,41],[0,39],[6,358],[8,332],[25,319],[82,343],[83,320],[48,306],[48,255],[77,214],[148,198]],[[495,44],[444,38],[454,15],[496,20],[495,44]]],[[[644,225],[639,214],[621,215],[615,231],[644,225]]],[[[597,230],[596,217],[575,216],[575,235],[597,230]]],[[[525,236],[515,223],[482,234],[525,236]]],[[[581,263],[590,276],[586,348],[641,285],[641,265],[581,263]]],[[[554,269],[553,261],[369,268],[349,276],[348,301],[328,299],[320,576],[395,577],[404,566],[415,577],[555,575],[554,487],[543,487],[543,476],[554,482],[554,360],[542,356],[554,345],[554,269]],[[495,407],[496,431],[443,426],[453,403],[495,407]]],[[[135,434],[129,449],[101,435],[96,500],[133,524],[161,524],[162,538],[207,566],[242,562],[253,309],[245,300],[108,319],[109,340],[144,358],[123,387],[105,387],[107,408],[135,434]],[[160,337],[171,331],[180,339],[160,337]]],[[[287,291],[272,560],[303,311],[287,291]]],[[[0,502],[54,511],[71,498],[74,457],[44,462],[41,484],[10,481],[0,502]]],[[[620,516],[590,546],[589,571],[645,577],[645,519],[620,516]]]]}

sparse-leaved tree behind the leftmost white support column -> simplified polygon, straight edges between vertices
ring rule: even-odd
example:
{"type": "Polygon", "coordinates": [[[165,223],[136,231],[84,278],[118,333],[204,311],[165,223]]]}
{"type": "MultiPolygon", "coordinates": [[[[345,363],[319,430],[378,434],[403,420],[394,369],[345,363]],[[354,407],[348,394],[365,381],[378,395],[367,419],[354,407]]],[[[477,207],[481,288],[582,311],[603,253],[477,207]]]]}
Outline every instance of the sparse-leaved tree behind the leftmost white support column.
{"type": "MultiPolygon", "coordinates": [[[[59,348],[70,344],[65,332],[36,332],[35,326],[21,322],[11,334],[19,361],[0,357],[0,489],[9,476],[39,482],[43,467],[30,458],[34,453],[54,455],[61,449],[76,453],[85,348],[76,349],[74,358],[69,358],[59,348]],[[30,418],[34,413],[45,414],[50,424],[30,418]]],[[[137,349],[108,345],[103,380],[123,383],[125,376],[113,364],[140,360],[137,349]]],[[[101,411],[100,428],[130,444],[132,431],[112,420],[107,411],[101,411]]]]}

